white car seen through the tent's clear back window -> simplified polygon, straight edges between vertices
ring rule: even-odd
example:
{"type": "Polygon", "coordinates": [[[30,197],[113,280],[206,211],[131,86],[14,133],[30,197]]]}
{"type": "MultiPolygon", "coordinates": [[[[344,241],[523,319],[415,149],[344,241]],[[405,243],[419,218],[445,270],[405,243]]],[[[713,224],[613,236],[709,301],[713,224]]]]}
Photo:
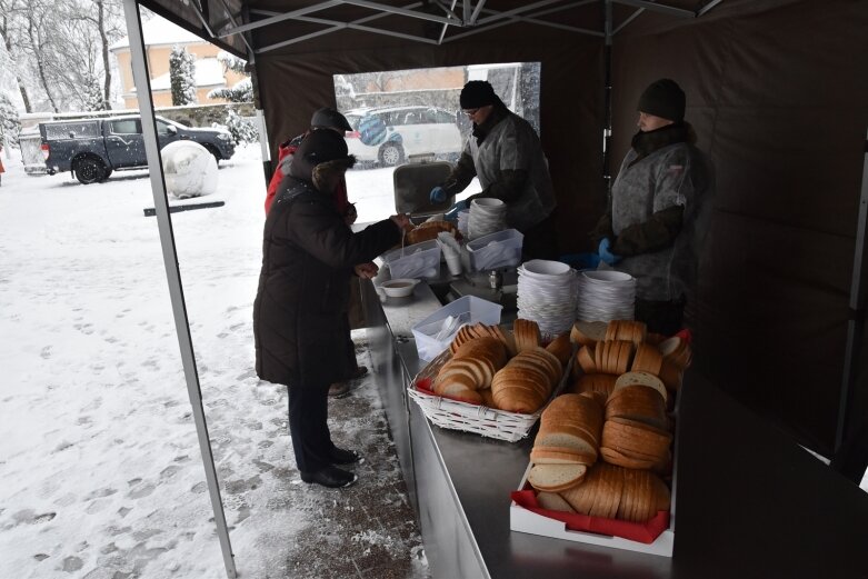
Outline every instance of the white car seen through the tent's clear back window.
{"type": "Polygon", "coordinates": [[[436,107],[388,107],[352,109],[343,113],[351,132],[347,147],[359,161],[383,167],[399,164],[411,154],[457,159],[461,132],[456,116],[436,107]]]}

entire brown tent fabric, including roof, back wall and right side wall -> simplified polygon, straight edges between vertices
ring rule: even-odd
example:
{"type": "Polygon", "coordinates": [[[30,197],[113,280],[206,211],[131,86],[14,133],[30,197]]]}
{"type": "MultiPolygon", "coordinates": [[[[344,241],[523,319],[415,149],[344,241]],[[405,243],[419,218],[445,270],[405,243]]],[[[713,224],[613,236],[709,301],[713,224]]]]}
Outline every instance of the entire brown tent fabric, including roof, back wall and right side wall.
{"type": "MultiPolygon", "coordinates": [[[[182,3],[140,3],[186,20],[201,33],[198,16],[182,3]]],[[[430,2],[378,3],[445,16],[430,2]]],[[[605,2],[565,0],[546,10],[567,4],[573,8],[538,18],[603,30],[605,2]]],[[[658,4],[698,11],[709,2],[658,4]]],[[[223,7],[235,17],[259,20],[311,3],[202,0],[201,6],[218,30],[228,23],[223,7]]],[[[519,0],[485,3],[495,11],[527,6],[519,0]]],[[[611,13],[617,31],[611,39],[612,177],[636,130],[638,96],[660,77],[685,89],[687,119],[717,170],[715,220],[697,305],[697,366],[800,441],[829,455],[851,313],[868,127],[868,76],[861,64],[868,52],[868,2],[724,0],[700,18],[681,18],[651,3],[639,9],[613,2],[611,13]]],[[[376,14],[340,4],[309,16],[350,22],[376,14]]],[[[483,11],[480,18],[490,16],[483,11]]],[[[367,24],[428,39],[438,38],[442,28],[396,14],[367,24]]],[[[559,238],[563,252],[589,250],[587,232],[606,198],[605,39],[531,22],[497,26],[482,20],[479,28],[485,26],[491,28],[478,34],[450,27],[441,46],[350,28],[320,34],[329,27],[313,21],[285,20],[249,32],[255,50],[269,48],[256,54],[253,73],[272,158],[277,143],[306,129],[312,110],[335,104],[332,74],[539,61],[541,139],[558,194],[559,238]]],[[[223,42],[245,50],[239,34],[223,42]]],[[[849,408],[855,426],[868,416],[868,367],[862,362],[868,336],[861,338],[849,408]]]]}

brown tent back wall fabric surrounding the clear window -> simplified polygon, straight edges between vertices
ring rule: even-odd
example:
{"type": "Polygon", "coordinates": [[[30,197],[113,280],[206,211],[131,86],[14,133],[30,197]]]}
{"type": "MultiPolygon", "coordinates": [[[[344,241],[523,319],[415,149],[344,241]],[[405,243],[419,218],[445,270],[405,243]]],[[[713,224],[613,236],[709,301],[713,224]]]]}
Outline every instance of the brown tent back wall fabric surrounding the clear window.
{"type": "MultiPolygon", "coordinates": [[[[507,28],[507,27],[505,27],[507,28]]],[[[515,31],[519,33],[518,30],[515,31]]],[[[540,62],[541,141],[558,194],[558,233],[565,251],[587,250],[602,210],[602,44],[590,37],[525,46],[450,44],[353,49],[340,54],[266,53],[257,62],[260,99],[272,149],[307,128],[311,111],[335,104],[333,73],[373,72],[486,62],[540,62]],[[289,80],[291,79],[291,80],[289,80]]],[[[276,158],[276,156],[272,153],[276,158]]]]}

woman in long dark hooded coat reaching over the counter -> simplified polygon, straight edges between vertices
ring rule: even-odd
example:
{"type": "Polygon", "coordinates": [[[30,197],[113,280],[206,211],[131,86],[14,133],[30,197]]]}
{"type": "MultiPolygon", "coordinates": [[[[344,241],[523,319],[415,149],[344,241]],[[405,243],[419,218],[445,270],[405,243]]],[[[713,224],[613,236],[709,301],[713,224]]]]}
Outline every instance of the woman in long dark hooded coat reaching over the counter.
{"type": "Polygon", "coordinates": [[[266,219],[262,271],[253,303],[257,373],[287,385],[289,431],[301,480],[348,487],[356,475],[335,465],[360,460],[329,433],[329,385],[351,371],[346,339],[349,279],[371,277],[375,257],[398,243],[406,216],[353,233],[332,202],[356,159],[333,131],[315,131],[293,156],[266,219]],[[359,266],[361,264],[361,266],[359,266]]]}

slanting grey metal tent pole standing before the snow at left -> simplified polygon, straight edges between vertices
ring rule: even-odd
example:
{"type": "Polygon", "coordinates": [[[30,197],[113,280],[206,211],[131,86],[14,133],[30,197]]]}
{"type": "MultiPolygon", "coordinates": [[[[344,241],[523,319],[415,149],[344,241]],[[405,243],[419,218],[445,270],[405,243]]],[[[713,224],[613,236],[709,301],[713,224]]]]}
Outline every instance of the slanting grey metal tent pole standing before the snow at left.
{"type": "Polygon", "coordinates": [[[151,86],[146,62],[144,39],[142,38],[141,20],[139,18],[138,0],[123,0],[123,12],[127,18],[127,33],[130,38],[130,56],[132,57],[132,77],[136,82],[136,96],[141,111],[141,128],[144,138],[144,152],[148,156],[148,170],[153,193],[153,207],[157,211],[157,224],[160,230],[160,244],[166,266],[166,277],[169,282],[169,296],[172,301],[174,315],[174,328],[178,332],[178,343],[181,349],[181,362],[183,375],[187,379],[187,392],[190,397],[196,431],[199,436],[199,450],[204,463],[204,476],[208,481],[208,490],[211,497],[211,507],[217,523],[217,536],[220,539],[220,549],[223,555],[226,575],[229,579],[236,579],[237,571],[232,546],[229,542],[229,529],[226,525],[223,503],[220,499],[220,487],[217,480],[211,442],[208,438],[208,425],[204,420],[202,396],[199,388],[199,375],[196,369],[193,345],[190,339],[190,325],[187,319],[187,307],[183,301],[183,288],[181,287],[181,272],[178,269],[178,253],[172,234],[172,222],[169,217],[169,202],[166,197],[166,181],[163,179],[160,148],[157,139],[157,121],[153,114],[153,100],[151,99],[151,86]]]}

